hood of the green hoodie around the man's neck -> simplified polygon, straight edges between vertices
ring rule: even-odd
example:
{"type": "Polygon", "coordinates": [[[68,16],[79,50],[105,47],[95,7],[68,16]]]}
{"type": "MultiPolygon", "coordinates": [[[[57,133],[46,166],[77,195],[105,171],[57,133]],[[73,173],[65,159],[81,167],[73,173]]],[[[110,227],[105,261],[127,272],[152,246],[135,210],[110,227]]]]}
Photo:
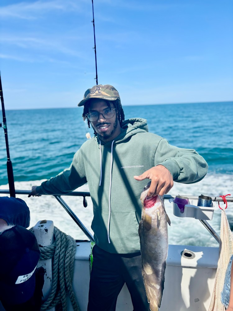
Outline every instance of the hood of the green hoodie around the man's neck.
{"type": "MultiPolygon", "coordinates": [[[[148,125],[147,125],[147,120],[142,119],[142,118],[130,118],[128,120],[125,120],[121,124],[121,134],[119,134],[115,139],[114,139],[114,145],[117,145],[121,142],[126,141],[129,137],[140,133],[140,132],[148,132],[148,125]]],[[[99,138],[98,135],[95,136],[95,140],[104,147],[110,147],[112,146],[112,141],[103,143],[103,141],[99,138]]]]}

